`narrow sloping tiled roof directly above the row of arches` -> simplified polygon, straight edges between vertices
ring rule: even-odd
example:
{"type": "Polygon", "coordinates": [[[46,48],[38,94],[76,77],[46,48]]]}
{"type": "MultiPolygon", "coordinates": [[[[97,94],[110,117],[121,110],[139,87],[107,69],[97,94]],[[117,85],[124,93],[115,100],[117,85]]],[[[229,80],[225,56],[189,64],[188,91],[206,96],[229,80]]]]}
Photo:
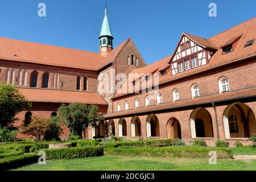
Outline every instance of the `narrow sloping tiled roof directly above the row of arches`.
{"type": "Polygon", "coordinates": [[[127,111],[120,111],[116,113],[105,114],[104,117],[106,119],[113,117],[122,117],[124,115],[129,114],[139,114],[144,112],[155,112],[162,109],[175,109],[184,106],[193,106],[193,105],[202,105],[202,104],[210,104],[212,102],[221,102],[225,100],[232,100],[235,98],[245,98],[245,97],[255,97],[256,96],[256,88],[245,89],[245,90],[236,90],[233,92],[226,92],[222,94],[215,94],[211,96],[198,97],[190,100],[182,100],[176,102],[169,102],[166,104],[141,107],[138,109],[131,109],[127,111]]]}

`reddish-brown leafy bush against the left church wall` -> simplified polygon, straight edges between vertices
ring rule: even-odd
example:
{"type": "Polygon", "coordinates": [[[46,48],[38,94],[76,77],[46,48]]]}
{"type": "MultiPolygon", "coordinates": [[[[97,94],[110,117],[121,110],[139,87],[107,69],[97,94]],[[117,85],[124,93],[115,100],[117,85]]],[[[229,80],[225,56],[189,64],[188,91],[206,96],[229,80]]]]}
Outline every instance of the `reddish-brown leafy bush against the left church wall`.
{"type": "Polygon", "coordinates": [[[44,137],[44,134],[49,129],[50,119],[33,117],[30,124],[22,127],[22,133],[26,135],[32,135],[36,139],[40,140],[44,137]]]}

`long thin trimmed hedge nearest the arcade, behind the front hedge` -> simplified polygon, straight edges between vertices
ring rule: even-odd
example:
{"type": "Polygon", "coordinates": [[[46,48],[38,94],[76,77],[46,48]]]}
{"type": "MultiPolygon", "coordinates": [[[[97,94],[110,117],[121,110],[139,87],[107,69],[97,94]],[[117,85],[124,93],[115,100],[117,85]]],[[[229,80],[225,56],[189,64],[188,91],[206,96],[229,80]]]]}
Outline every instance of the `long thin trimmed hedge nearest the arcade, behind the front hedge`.
{"type": "Polygon", "coordinates": [[[184,143],[180,139],[159,139],[159,140],[144,140],[144,141],[126,141],[126,142],[111,142],[105,144],[105,147],[167,147],[180,146],[184,143]]]}

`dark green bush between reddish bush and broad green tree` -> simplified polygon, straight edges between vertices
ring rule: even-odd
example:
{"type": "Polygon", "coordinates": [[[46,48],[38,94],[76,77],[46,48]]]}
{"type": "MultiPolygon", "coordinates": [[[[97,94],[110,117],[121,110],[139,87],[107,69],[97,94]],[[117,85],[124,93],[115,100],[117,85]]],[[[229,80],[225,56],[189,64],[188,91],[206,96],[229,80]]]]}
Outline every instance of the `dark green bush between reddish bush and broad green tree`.
{"type": "Polygon", "coordinates": [[[52,117],[49,122],[49,128],[44,133],[44,140],[60,140],[60,135],[63,133],[63,130],[60,127],[60,119],[57,117],[52,117]]]}

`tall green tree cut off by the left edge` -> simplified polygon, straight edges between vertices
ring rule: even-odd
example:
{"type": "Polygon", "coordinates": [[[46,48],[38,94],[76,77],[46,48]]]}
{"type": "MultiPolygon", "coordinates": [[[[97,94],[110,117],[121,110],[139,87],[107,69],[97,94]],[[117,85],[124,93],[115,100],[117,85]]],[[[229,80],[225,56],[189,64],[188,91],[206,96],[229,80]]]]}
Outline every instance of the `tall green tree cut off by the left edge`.
{"type": "Polygon", "coordinates": [[[23,107],[31,107],[30,102],[14,85],[0,84],[0,126],[8,126],[13,123],[15,115],[22,111],[23,107]]]}

